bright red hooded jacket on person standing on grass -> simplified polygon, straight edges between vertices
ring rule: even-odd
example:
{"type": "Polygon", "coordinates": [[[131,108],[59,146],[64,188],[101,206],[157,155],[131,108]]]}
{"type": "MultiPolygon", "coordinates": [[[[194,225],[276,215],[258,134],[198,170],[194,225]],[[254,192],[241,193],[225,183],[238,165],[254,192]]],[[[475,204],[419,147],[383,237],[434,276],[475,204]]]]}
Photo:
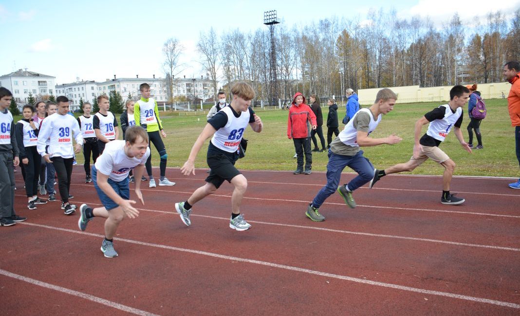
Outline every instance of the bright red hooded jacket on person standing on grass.
{"type": "Polygon", "coordinates": [[[303,97],[302,104],[296,105],[294,100],[298,95],[303,97],[302,93],[296,92],[289,109],[289,118],[287,120],[287,136],[289,139],[310,137],[311,126],[316,125],[316,115],[314,115],[310,106],[305,104],[305,97],[303,97]]]}

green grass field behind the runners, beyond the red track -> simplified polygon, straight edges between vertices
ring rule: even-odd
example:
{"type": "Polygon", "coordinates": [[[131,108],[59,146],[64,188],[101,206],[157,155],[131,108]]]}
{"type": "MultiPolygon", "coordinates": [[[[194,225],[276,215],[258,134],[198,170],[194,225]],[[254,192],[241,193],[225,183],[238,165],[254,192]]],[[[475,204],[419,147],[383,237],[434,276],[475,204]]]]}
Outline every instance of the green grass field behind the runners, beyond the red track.
{"type": "MultiPolygon", "coordinates": [[[[394,111],[383,116],[378,128],[370,135],[373,138],[382,138],[395,133],[403,140],[395,145],[381,145],[365,147],[365,156],[377,168],[386,168],[395,163],[408,161],[412,154],[413,128],[417,119],[426,112],[438,106],[437,103],[399,104],[394,111]]],[[[480,125],[484,149],[473,150],[467,153],[459,144],[453,131],[441,144],[442,148],[456,162],[457,175],[486,175],[486,176],[518,176],[518,162],[515,156],[514,128],[508,115],[506,99],[486,100],[487,117],[480,125]]],[[[467,109],[467,106],[465,107],[467,109]]],[[[294,146],[287,138],[287,111],[262,111],[255,108],[255,112],[264,122],[264,131],[255,133],[250,128],[244,133],[249,140],[248,151],[244,159],[237,162],[237,167],[243,170],[294,170],[296,159],[293,159],[294,146]]],[[[323,121],[327,121],[328,109],[322,108],[323,121]]],[[[338,116],[345,115],[345,108],[340,106],[338,116]]],[[[188,158],[191,146],[197,139],[206,124],[205,114],[179,116],[173,112],[161,112],[167,138],[164,139],[168,153],[168,167],[181,167],[188,158]]],[[[119,121],[119,116],[118,121],[119,121]]],[[[15,117],[17,121],[19,117],[15,117]]],[[[466,126],[469,122],[467,113],[464,113],[462,132],[467,141],[466,126]]],[[[423,133],[426,132],[423,127],[423,133]]],[[[340,122],[340,130],[343,124],[340,122]]],[[[323,133],[327,138],[327,127],[323,126],[323,133]]],[[[206,145],[207,145],[206,141],[206,145]]],[[[319,140],[318,140],[319,143],[319,140]]],[[[474,139],[476,145],[476,139],[474,139]]],[[[205,168],[206,148],[199,153],[195,166],[205,168]]],[[[83,155],[77,155],[77,161],[83,162],[83,155]]],[[[159,165],[157,151],[152,146],[152,161],[154,166],[159,165]]],[[[327,154],[313,153],[313,170],[325,171],[327,168],[327,154]]],[[[444,168],[437,166],[433,161],[426,161],[413,174],[442,174],[444,168]]],[[[348,170],[346,170],[348,171],[348,170]]]]}

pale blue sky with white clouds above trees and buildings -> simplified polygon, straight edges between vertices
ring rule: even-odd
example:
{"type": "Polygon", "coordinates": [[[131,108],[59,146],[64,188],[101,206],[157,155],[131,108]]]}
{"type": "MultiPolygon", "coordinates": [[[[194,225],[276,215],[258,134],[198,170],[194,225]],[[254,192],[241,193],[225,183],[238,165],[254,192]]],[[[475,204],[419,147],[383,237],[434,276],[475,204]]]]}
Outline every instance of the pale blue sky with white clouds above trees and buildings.
{"type": "Polygon", "coordinates": [[[205,75],[196,44],[210,28],[220,35],[265,28],[264,11],[277,10],[289,29],[325,18],[368,19],[370,9],[394,9],[401,19],[419,15],[435,25],[454,12],[462,22],[490,11],[511,12],[520,0],[341,0],[302,1],[6,1],[0,0],[0,75],[20,68],[56,77],[56,84],[80,80],[164,77],[162,45],[171,37],[186,48],[180,75],[205,75]],[[471,7],[469,6],[471,3],[471,7]],[[450,10],[456,6],[460,9],[450,10]],[[441,9],[439,9],[441,8],[441,9]],[[7,40],[6,40],[7,39],[7,40]]]}

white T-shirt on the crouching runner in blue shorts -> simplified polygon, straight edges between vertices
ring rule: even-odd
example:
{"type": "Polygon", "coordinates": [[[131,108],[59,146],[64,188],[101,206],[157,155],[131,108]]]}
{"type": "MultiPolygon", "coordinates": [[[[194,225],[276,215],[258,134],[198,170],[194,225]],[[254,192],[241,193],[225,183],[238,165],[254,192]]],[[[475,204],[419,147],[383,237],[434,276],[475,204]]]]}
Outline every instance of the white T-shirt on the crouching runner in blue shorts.
{"type": "Polygon", "coordinates": [[[128,157],[125,154],[125,141],[115,140],[107,143],[105,151],[98,157],[94,166],[102,174],[108,175],[110,179],[116,182],[125,180],[130,170],[145,164],[150,156],[150,147],[146,148],[146,153],[141,159],[136,157],[128,157]]]}

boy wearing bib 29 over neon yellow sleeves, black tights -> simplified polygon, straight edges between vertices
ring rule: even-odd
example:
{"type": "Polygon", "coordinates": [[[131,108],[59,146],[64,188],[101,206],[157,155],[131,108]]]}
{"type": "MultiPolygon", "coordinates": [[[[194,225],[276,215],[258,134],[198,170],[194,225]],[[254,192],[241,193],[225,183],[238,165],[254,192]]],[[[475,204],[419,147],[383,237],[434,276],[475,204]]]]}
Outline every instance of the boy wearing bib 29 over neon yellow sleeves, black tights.
{"type": "MultiPolygon", "coordinates": [[[[159,180],[159,186],[171,186],[175,185],[175,182],[171,182],[166,175],[166,162],[168,160],[168,154],[166,154],[166,147],[161,139],[161,135],[163,138],[166,138],[166,133],[162,127],[161,119],[159,118],[159,108],[157,107],[157,101],[153,98],[150,98],[150,85],[149,84],[141,84],[139,85],[139,91],[141,92],[141,99],[137,100],[134,104],[134,118],[135,125],[142,126],[142,128],[146,129],[148,132],[148,138],[150,142],[148,146],[153,143],[155,149],[159,152],[159,156],[161,157],[161,162],[159,163],[159,169],[161,170],[161,178],[159,180]],[[161,131],[161,135],[159,135],[159,131],[161,131]]],[[[150,177],[150,182],[148,186],[150,188],[155,187],[155,179],[152,174],[152,156],[148,157],[146,161],[146,172],[150,177]]]]}

